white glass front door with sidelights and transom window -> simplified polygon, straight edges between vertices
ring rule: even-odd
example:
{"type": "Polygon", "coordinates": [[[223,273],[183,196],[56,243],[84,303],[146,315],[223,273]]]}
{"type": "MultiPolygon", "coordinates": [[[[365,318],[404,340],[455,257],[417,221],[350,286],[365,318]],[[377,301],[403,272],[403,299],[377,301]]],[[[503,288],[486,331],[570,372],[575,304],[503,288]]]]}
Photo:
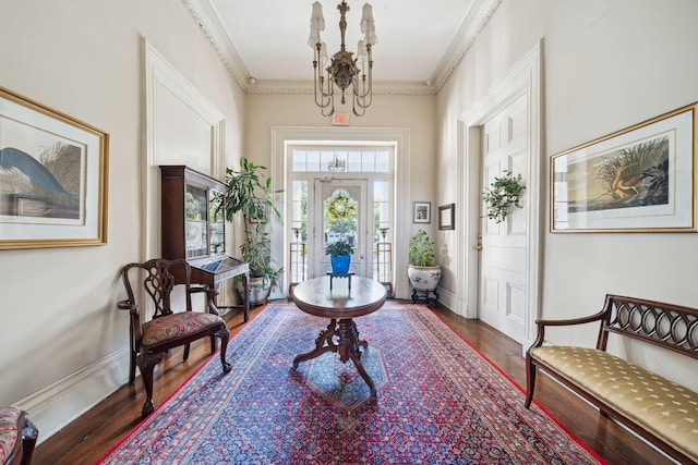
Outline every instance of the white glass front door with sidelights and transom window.
{"type": "Polygon", "coordinates": [[[327,245],[353,247],[350,272],[393,286],[394,145],[292,145],[286,159],[289,286],[332,270],[327,245]]]}

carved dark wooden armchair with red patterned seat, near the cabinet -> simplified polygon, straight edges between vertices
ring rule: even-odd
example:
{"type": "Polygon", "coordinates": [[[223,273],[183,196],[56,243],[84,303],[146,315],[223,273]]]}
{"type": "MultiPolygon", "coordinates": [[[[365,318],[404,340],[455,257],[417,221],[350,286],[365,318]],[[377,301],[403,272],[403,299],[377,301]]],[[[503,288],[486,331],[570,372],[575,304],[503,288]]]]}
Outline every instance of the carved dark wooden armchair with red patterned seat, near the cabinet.
{"type": "Polygon", "coordinates": [[[215,338],[220,338],[222,371],[230,372],[232,367],[226,362],[230,333],[214,304],[216,290],[192,285],[191,267],[186,260],[154,258],[143,264],[129,264],[122,268],[121,277],[128,298],[119,302],[118,307],[122,310],[129,310],[131,315],[129,383],[135,381],[137,365],[146,393],[142,409],[143,417],[148,416],[155,408],[153,405],[153,371],[170,348],[184,345],[183,359],[186,360],[191,342],[209,336],[213,354],[216,350],[215,338]],[[149,321],[144,322],[141,318],[141,309],[132,282],[143,285],[143,290],[149,296],[149,302],[154,305],[153,319],[149,321]],[[183,283],[185,286],[186,308],[184,311],[172,311],[170,306],[176,283],[183,283]],[[192,294],[200,292],[206,294],[207,311],[192,310],[192,294]]]}

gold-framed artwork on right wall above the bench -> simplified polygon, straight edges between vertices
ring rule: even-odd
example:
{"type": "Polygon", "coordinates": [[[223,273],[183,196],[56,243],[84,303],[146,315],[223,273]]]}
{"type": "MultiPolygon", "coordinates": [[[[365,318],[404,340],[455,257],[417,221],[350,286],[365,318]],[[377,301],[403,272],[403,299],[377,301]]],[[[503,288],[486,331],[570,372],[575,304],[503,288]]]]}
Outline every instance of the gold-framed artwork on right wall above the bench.
{"type": "Polygon", "coordinates": [[[551,231],[695,232],[697,108],[553,156],[551,231]]]}

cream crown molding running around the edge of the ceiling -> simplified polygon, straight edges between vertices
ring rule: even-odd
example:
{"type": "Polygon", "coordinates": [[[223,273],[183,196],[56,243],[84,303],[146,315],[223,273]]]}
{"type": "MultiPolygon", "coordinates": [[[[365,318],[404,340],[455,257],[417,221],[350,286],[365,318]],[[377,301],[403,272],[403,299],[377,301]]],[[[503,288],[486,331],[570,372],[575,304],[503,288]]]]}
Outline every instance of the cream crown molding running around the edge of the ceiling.
{"type": "MultiPolygon", "coordinates": [[[[374,95],[434,95],[444,86],[503,0],[476,0],[432,77],[420,82],[376,82],[374,95]]],[[[209,0],[182,0],[233,79],[249,95],[313,94],[312,81],[261,81],[250,76],[209,0]]]]}

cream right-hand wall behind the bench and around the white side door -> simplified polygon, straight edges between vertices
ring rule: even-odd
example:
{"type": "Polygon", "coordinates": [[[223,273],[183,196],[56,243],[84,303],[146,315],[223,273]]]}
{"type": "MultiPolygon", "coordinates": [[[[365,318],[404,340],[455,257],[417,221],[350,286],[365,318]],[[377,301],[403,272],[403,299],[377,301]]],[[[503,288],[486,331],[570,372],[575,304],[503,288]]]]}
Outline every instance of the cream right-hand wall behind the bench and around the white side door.
{"type": "MultiPolygon", "coordinates": [[[[697,234],[547,232],[552,155],[698,100],[696,17],[694,0],[504,0],[438,94],[443,204],[455,195],[458,118],[543,40],[542,316],[592,314],[606,293],[697,305],[697,234]]],[[[593,329],[546,335],[554,343],[595,341],[593,329]]],[[[693,360],[664,363],[657,351],[617,350],[698,389],[695,370],[685,369],[693,360]]]]}

